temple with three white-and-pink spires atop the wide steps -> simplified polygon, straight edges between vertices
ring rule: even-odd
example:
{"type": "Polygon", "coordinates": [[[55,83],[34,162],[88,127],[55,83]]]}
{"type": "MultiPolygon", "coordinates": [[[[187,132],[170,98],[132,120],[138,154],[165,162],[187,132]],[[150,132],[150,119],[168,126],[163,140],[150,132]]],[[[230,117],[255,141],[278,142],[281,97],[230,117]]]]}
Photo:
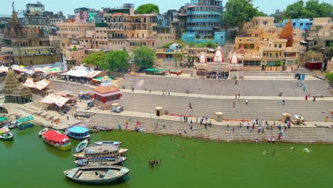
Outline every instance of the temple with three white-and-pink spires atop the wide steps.
{"type": "Polygon", "coordinates": [[[198,62],[194,63],[194,75],[198,78],[208,79],[239,79],[243,77],[243,64],[238,62],[236,53],[233,53],[229,63],[225,62],[223,51],[220,46],[216,48],[213,62],[208,62],[206,53],[201,52],[198,62]]]}

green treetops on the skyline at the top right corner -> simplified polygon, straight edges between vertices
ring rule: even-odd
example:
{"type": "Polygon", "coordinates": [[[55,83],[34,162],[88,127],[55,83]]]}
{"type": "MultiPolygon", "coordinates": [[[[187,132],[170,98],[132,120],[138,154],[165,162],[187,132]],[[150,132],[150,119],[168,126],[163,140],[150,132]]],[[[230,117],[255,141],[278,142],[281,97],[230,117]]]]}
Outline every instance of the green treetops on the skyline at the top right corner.
{"type": "Polygon", "coordinates": [[[333,18],[333,6],[318,0],[309,0],[306,3],[302,0],[290,4],[285,10],[287,19],[313,19],[318,17],[333,18]]]}

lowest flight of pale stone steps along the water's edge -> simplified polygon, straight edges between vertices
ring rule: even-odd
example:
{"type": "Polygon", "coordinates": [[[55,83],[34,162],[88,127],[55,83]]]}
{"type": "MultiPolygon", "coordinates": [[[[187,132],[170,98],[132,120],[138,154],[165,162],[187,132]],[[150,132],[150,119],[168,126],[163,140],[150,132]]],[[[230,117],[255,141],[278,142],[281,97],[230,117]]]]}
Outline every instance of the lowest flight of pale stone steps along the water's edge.
{"type": "MultiPolygon", "coordinates": [[[[125,127],[125,121],[129,122],[128,130],[134,130],[137,121],[141,122],[141,127],[143,127],[144,132],[157,134],[157,135],[178,135],[181,137],[196,137],[206,140],[221,140],[221,141],[255,141],[267,140],[270,137],[275,137],[277,140],[277,135],[279,130],[274,128],[274,130],[265,130],[264,133],[250,132],[246,127],[235,127],[235,132],[231,130],[226,134],[227,127],[221,125],[212,125],[212,127],[205,127],[197,123],[192,123],[195,130],[190,130],[187,122],[180,122],[174,120],[162,120],[144,117],[128,117],[123,115],[108,115],[108,114],[95,114],[91,117],[90,125],[104,125],[112,127],[114,129],[118,128],[118,125],[125,127]],[[186,133],[184,133],[186,130],[186,133]],[[181,133],[181,135],[179,134],[181,133]]],[[[231,127],[232,129],[233,127],[231,127]]],[[[284,132],[284,137],[281,138],[281,142],[333,142],[333,129],[331,128],[312,128],[312,127],[294,127],[287,129],[284,132]]]]}

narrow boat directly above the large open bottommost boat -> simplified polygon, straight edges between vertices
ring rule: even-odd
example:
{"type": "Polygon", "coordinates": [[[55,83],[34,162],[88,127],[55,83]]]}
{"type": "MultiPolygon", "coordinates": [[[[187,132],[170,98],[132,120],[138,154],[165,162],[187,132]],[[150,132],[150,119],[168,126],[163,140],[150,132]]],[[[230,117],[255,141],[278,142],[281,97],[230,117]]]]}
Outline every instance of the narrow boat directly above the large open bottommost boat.
{"type": "Polygon", "coordinates": [[[112,156],[112,157],[95,157],[82,160],[76,160],[75,164],[79,166],[97,166],[97,165],[116,165],[121,164],[127,158],[122,156],[112,156]]]}

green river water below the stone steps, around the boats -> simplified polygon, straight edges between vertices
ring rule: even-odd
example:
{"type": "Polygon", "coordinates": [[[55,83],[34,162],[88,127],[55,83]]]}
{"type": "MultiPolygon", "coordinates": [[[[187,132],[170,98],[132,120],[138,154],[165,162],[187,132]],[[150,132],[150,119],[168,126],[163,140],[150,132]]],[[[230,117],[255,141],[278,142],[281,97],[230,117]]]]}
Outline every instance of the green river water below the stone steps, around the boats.
{"type": "MultiPolygon", "coordinates": [[[[76,167],[72,155],[79,141],[71,140],[70,151],[57,150],[38,137],[41,129],[13,130],[13,141],[0,140],[1,187],[96,187],[63,175],[76,167]]],[[[333,187],[331,145],[170,138],[126,131],[91,134],[91,142],[119,140],[129,149],[125,165],[131,172],[125,181],[98,187],[333,187]],[[162,162],[150,167],[149,159],[162,162]]]]}

